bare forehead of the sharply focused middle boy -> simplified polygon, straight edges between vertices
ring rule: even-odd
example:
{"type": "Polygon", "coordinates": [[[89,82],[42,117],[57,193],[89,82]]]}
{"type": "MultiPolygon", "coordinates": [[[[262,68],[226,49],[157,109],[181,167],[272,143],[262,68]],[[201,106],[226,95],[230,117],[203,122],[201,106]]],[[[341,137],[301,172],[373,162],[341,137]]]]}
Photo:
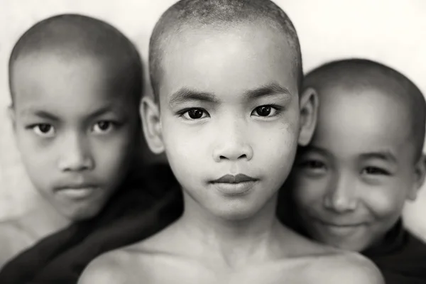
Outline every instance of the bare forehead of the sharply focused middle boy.
{"type": "Polygon", "coordinates": [[[160,90],[223,93],[276,83],[297,96],[293,50],[275,28],[244,23],[182,30],[165,47],[160,90]]]}

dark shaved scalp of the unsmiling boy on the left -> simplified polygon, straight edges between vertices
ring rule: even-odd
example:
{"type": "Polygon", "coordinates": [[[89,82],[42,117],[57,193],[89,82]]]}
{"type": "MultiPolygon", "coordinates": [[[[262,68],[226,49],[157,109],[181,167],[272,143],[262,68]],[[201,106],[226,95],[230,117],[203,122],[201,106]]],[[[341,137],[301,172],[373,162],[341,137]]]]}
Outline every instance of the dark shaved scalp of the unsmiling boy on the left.
{"type": "Polygon", "coordinates": [[[114,78],[129,88],[136,99],[142,92],[141,58],[124,34],[104,21],[78,14],[46,18],[28,29],[13,47],[9,59],[9,86],[15,97],[14,67],[22,58],[58,56],[77,60],[93,58],[114,73],[114,78]]]}

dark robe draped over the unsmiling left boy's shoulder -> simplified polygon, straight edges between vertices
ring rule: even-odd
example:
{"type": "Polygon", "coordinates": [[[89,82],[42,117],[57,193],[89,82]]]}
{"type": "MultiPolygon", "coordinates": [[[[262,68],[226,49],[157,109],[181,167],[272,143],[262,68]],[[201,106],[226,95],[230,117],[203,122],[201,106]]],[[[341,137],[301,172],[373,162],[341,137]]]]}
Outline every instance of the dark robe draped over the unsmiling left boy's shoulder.
{"type": "Polygon", "coordinates": [[[182,214],[182,194],[168,165],[129,178],[97,217],[40,240],[0,271],[1,284],[77,283],[100,254],[152,236],[182,214]]]}

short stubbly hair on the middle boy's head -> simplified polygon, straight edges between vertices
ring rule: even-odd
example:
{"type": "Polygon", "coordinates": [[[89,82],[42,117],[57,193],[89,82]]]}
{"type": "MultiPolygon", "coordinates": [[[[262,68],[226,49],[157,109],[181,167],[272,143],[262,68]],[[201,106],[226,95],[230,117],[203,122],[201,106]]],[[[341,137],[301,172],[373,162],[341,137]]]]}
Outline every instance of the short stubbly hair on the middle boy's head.
{"type": "MultiPolygon", "coordinates": [[[[269,0],[181,0],[160,17],[151,35],[149,67],[155,98],[162,77],[161,61],[165,47],[182,31],[212,27],[226,29],[244,23],[265,24],[278,30],[290,45],[293,70],[299,88],[302,80],[302,56],[297,33],[285,12],[269,0]]],[[[283,52],[288,52],[284,51],[283,52]]]]}

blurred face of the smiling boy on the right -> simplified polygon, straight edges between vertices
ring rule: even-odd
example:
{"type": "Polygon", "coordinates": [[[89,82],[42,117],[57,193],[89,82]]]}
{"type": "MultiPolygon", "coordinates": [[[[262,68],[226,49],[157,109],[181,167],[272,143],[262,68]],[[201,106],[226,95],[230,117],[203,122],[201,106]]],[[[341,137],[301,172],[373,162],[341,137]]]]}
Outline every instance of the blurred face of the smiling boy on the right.
{"type": "Polygon", "coordinates": [[[313,239],[364,251],[395,225],[414,186],[406,160],[411,149],[400,147],[407,143],[406,110],[376,89],[359,92],[338,86],[322,92],[314,141],[307,155],[299,158],[319,160],[324,169],[295,168],[300,183],[294,189],[297,211],[313,239]],[[383,148],[388,152],[380,151],[383,148]],[[375,168],[376,173],[368,174],[366,168],[375,168]],[[346,183],[331,182],[345,177],[346,183]],[[356,207],[341,210],[326,205],[324,200],[339,194],[356,207]]]}

